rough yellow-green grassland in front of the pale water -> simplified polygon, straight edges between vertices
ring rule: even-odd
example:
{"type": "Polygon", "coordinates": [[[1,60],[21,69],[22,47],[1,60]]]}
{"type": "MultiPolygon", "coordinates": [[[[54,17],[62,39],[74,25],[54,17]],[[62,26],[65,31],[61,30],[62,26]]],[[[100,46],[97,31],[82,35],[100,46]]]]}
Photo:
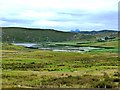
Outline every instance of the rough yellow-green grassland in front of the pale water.
{"type": "MultiPolygon", "coordinates": [[[[117,45],[117,42],[114,42],[117,45]]],[[[109,46],[109,43],[95,45],[109,46]]],[[[113,42],[110,43],[114,46],[113,42]]],[[[3,44],[3,88],[118,88],[117,46],[91,52],[53,52],[3,44]]]]}

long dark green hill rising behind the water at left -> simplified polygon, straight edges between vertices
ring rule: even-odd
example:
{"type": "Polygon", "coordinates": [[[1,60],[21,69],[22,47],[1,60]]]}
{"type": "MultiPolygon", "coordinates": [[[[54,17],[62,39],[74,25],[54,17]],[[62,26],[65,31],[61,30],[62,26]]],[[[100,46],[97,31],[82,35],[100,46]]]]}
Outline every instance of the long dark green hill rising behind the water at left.
{"type": "Polygon", "coordinates": [[[71,40],[75,33],[53,29],[3,27],[3,42],[61,42],[71,40]]]}

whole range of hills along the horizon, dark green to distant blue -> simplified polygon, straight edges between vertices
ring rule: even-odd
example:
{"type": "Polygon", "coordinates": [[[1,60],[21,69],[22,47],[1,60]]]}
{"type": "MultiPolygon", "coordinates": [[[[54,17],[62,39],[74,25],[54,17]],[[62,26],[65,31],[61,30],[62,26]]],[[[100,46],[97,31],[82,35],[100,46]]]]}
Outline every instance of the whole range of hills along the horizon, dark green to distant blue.
{"type": "Polygon", "coordinates": [[[63,41],[96,41],[104,37],[117,37],[117,31],[81,31],[63,32],[54,29],[35,29],[23,27],[2,27],[3,42],[63,42],[63,41]]]}

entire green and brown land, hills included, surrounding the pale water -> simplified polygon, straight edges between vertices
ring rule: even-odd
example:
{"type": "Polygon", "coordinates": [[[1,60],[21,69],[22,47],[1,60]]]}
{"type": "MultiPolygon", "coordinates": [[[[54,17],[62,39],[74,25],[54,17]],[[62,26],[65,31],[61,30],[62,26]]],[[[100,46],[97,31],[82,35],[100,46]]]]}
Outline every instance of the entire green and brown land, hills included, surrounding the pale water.
{"type": "Polygon", "coordinates": [[[115,88],[118,31],[62,32],[52,29],[2,29],[3,88],[115,88]],[[38,48],[13,43],[36,43],[38,48]],[[42,47],[95,47],[83,52],[41,50],[42,47]]]}

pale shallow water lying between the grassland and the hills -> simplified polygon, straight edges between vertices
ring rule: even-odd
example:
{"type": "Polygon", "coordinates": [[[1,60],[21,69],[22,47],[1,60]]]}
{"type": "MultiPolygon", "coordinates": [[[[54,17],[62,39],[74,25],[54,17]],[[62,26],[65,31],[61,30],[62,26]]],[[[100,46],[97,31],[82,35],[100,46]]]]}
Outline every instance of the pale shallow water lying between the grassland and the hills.
{"type": "Polygon", "coordinates": [[[100,49],[95,47],[75,47],[75,46],[55,46],[55,47],[42,47],[40,44],[35,43],[12,43],[14,45],[25,46],[29,48],[38,48],[40,50],[49,50],[57,52],[87,52],[93,49],[100,49]]]}

